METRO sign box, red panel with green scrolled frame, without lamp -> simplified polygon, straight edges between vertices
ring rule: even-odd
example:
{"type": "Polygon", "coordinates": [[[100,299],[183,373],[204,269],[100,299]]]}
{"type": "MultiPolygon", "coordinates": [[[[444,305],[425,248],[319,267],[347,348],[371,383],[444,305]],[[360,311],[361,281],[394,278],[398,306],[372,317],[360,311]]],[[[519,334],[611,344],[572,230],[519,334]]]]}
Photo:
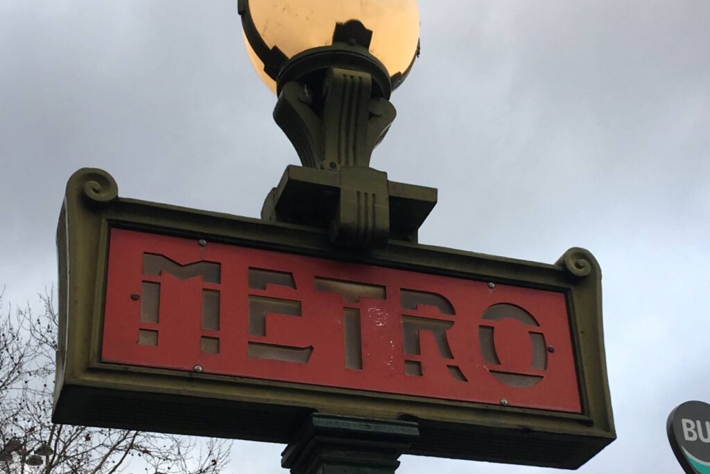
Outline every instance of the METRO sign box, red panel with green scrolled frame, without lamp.
{"type": "Polygon", "coordinates": [[[288,443],[314,411],[417,421],[408,452],[577,468],[615,438],[601,272],[118,198],[58,229],[55,421],[288,443]]]}

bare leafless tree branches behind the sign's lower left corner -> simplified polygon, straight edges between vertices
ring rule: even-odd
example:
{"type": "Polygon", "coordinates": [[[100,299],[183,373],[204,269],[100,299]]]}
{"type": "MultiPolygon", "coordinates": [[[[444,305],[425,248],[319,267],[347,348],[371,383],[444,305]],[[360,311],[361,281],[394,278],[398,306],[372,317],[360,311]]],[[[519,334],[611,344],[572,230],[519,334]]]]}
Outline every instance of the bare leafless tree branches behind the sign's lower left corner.
{"type": "Polygon", "coordinates": [[[12,311],[0,292],[0,473],[117,474],[129,465],[150,474],[224,472],[229,441],[53,424],[58,318],[51,291],[40,301],[39,316],[12,311]]]}

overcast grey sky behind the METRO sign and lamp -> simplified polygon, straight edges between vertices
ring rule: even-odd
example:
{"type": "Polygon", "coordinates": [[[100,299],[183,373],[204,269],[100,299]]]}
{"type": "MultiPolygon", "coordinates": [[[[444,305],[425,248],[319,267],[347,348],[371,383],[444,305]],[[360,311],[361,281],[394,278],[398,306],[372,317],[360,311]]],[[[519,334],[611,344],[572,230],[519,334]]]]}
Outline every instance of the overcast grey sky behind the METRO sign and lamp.
{"type": "MultiPolygon", "coordinates": [[[[710,1],[420,1],[422,55],[373,156],[433,186],[420,242],[555,262],[591,250],[618,440],[581,473],[679,473],[665,420],[710,402],[710,1]]],[[[257,217],[297,163],[236,0],[0,0],[0,286],[56,283],[83,166],[121,196],[257,217]]],[[[283,446],[236,443],[278,474],[283,446]]],[[[398,472],[555,470],[403,457],[398,472]]]]}

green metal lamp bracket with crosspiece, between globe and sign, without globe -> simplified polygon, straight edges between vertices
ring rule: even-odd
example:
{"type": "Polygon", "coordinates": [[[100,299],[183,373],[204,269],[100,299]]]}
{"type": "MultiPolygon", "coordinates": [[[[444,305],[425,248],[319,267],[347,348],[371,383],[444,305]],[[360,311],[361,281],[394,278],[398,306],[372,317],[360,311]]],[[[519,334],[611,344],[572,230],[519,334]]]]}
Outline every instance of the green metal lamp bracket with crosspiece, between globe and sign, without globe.
{"type": "Polygon", "coordinates": [[[360,249],[416,242],[436,203],[435,189],[391,183],[370,167],[396,116],[391,78],[368,52],[371,36],[359,21],[338,23],[332,45],[280,66],[273,117],[304,168],[290,166],[262,209],[265,220],[326,227],[334,244],[360,249]]]}

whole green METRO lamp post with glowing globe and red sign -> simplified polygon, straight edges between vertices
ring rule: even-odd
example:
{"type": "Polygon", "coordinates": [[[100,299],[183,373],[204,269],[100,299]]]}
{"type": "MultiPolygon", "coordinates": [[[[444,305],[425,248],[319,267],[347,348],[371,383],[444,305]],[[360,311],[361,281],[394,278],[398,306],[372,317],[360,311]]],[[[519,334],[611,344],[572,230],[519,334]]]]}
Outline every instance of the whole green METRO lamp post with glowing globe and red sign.
{"type": "Polygon", "coordinates": [[[574,469],[611,443],[594,256],[418,244],[437,190],[370,166],[417,57],[416,1],[239,12],[302,166],[261,220],[72,175],[53,420],[286,443],[293,474],[393,474],[401,453],[574,469]]]}

